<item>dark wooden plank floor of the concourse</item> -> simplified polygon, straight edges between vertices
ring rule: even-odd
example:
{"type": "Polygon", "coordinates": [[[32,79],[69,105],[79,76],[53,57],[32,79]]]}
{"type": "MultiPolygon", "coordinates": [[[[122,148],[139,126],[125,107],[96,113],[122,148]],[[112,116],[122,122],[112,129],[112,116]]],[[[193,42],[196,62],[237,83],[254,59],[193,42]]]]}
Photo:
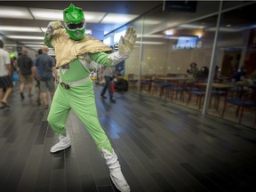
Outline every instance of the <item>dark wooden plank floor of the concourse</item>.
{"type": "MultiPolygon", "coordinates": [[[[132,192],[256,191],[256,131],[137,92],[100,100],[108,133],[132,192]]],[[[0,110],[1,192],[112,192],[108,167],[71,111],[72,147],[52,155],[57,141],[36,98],[0,110]]]]}

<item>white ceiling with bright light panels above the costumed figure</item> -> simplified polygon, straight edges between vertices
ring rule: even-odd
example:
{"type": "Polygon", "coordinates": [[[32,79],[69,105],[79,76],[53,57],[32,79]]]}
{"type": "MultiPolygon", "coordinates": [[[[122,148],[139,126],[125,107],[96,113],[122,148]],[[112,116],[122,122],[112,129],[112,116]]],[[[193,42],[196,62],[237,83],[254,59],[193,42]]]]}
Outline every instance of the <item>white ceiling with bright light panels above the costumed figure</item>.
{"type": "Polygon", "coordinates": [[[162,1],[0,1],[0,36],[38,50],[48,23],[63,20],[62,11],[71,3],[83,9],[88,33],[91,29],[106,34],[162,1]]]}

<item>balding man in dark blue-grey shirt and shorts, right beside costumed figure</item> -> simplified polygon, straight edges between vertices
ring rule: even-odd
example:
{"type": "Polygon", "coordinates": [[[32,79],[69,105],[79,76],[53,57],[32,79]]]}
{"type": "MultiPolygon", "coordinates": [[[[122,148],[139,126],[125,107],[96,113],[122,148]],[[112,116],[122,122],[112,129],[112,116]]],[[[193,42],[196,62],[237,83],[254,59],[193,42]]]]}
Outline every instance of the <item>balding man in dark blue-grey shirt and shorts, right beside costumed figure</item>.
{"type": "Polygon", "coordinates": [[[40,91],[42,92],[42,98],[44,101],[44,108],[49,108],[48,92],[50,92],[51,100],[55,92],[54,76],[59,78],[57,70],[55,68],[55,60],[48,55],[49,48],[44,45],[42,48],[42,54],[36,58],[36,70],[40,80],[40,91]],[[54,76],[52,76],[52,73],[54,76]]]}

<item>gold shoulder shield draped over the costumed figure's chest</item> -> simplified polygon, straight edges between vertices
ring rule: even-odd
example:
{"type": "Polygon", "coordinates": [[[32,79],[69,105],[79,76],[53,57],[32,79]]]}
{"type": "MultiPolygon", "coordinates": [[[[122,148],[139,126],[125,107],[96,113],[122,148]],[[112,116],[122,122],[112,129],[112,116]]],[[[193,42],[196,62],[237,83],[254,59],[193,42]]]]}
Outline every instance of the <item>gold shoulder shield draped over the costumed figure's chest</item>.
{"type": "Polygon", "coordinates": [[[92,36],[84,36],[83,39],[75,41],[66,32],[65,28],[55,29],[52,36],[52,47],[56,55],[56,67],[68,64],[84,53],[111,52],[106,44],[92,36]]]}

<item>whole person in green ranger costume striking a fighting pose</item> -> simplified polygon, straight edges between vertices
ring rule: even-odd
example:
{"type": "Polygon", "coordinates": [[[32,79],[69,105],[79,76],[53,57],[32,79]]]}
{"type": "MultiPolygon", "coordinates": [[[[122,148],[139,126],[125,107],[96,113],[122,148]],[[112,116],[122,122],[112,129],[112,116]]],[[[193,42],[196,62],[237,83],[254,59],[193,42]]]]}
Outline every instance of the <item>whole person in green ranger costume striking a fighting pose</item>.
{"type": "Polygon", "coordinates": [[[81,8],[70,4],[63,11],[63,16],[64,28],[60,21],[52,21],[44,36],[44,43],[55,50],[56,67],[60,69],[59,84],[47,118],[53,131],[59,135],[60,142],[51,148],[51,152],[55,153],[71,146],[65,125],[68,113],[73,109],[106,159],[110,178],[116,188],[122,192],[130,191],[116,153],[100,125],[88,67],[91,60],[103,66],[110,66],[127,59],[136,41],[135,28],[127,29],[124,37],[120,38],[118,52],[112,52],[111,48],[99,40],[84,36],[85,21],[81,8]]]}

